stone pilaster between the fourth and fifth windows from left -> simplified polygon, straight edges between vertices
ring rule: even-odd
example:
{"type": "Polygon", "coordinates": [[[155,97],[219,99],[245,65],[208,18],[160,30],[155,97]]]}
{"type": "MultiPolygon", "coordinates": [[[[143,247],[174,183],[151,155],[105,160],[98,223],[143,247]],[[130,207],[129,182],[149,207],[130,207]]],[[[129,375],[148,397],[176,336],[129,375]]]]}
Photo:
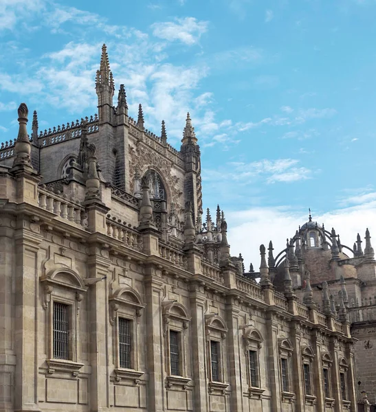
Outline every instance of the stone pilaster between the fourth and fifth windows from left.
{"type": "Polygon", "coordinates": [[[241,359],[239,354],[243,347],[239,346],[239,306],[232,297],[228,298],[226,308],[228,322],[228,360],[230,363],[229,375],[231,385],[230,410],[241,411],[243,387],[241,385],[241,359]]]}

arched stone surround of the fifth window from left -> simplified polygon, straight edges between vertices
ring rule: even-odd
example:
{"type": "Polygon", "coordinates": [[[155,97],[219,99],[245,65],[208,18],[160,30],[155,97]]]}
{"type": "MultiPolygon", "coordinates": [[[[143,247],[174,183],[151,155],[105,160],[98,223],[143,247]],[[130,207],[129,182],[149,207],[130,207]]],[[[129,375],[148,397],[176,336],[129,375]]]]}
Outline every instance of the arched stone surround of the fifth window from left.
{"type": "Polygon", "coordinates": [[[263,381],[263,376],[261,376],[260,368],[260,352],[261,347],[263,347],[263,335],[261,332],[252,327],[247,326],[243,328],[243,344],[244,344],[244,354],[247,360],[247,382],[248,382],[248,393],[250,396],[256,395],[261,397],[265,389],[261,387],[261,382],[263,381]],[[258,386],[252,387],[251,383],[251,371],[250,371],[250,350],[253,350],[257,354],[257,369],[258,369],[258,386]]]}

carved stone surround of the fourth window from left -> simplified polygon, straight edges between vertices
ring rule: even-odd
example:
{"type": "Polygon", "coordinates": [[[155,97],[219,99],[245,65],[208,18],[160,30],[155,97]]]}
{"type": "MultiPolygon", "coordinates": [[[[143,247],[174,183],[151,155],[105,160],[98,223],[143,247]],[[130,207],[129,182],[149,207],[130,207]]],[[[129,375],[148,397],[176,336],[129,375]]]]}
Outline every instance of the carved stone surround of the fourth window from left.
{"type": "Polygon", "coordinates": [[[205,315],[205,327],[206,359],[209,376],[208,391],[209,393],[219,391],[225,394],[225,391],[228,388],[229,384],[225,383],[225,363],[223,354],[225,354],[225,339],[228,328],[225,324],[225,321],[217,313],[210,313],[205,315]],[[212,380],[212,354],[210,351],[210,341],[216,341],[219,343],[219,382],[212,380]]]}

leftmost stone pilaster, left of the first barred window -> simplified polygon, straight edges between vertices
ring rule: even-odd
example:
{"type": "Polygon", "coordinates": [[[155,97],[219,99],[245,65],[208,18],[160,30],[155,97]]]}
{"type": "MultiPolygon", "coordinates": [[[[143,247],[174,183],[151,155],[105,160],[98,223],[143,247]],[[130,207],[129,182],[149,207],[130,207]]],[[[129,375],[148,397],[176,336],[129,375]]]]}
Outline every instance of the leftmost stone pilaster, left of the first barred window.
{"type": "Polygon", "coordinates": [[[16,222],[14,232],[14,410],[39,411],[38,359],[38,250],[39,226],[27,218],[16,222]]]}

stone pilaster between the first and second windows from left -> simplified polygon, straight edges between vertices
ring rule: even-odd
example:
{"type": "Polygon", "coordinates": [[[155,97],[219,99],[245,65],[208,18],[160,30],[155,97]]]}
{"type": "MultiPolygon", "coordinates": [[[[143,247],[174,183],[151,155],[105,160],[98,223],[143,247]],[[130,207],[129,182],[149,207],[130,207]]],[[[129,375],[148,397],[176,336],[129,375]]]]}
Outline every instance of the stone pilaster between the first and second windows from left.
{"type": "MultiPolygon", "coordinates": [[[[107,277],[111,262],[108,251],[101,244],[93,244],[89,249],[89,279],[107,277]]],[[[107,281],[90,284],[89,279],[89,359],[91,364],[91,390],[89,394],[91,411],[109,409],[109,309],[107,281]]]]}

